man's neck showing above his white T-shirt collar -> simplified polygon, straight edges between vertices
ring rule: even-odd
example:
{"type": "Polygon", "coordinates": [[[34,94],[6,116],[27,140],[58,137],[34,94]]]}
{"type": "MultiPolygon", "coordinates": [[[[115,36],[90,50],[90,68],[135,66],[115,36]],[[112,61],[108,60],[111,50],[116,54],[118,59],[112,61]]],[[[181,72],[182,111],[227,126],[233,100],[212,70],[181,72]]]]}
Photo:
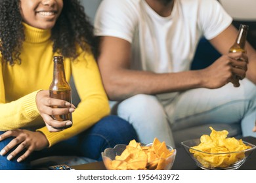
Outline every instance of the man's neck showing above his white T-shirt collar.
{"type": "Polygon", "coordinates": [[[175,0],[145,0],[145,1],[160,16],[167,17],[171,15],[175,0]]]}

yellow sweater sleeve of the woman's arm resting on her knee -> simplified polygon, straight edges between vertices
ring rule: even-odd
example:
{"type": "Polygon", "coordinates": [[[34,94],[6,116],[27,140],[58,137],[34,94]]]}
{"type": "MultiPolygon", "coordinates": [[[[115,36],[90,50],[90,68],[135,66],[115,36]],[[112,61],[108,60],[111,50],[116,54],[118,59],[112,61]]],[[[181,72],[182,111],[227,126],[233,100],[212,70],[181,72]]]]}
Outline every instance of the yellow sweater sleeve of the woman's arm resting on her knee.
{"type": "Polygon", "coordinates": [[[85,131],[110,113],[98,66],[93,55],[83,52],[72,61],[72,75],[81,102],[72,113],[73,125],[63,131],[51,133],[47,127],[37,129],[47,137],[49,146],[85,131]]]}

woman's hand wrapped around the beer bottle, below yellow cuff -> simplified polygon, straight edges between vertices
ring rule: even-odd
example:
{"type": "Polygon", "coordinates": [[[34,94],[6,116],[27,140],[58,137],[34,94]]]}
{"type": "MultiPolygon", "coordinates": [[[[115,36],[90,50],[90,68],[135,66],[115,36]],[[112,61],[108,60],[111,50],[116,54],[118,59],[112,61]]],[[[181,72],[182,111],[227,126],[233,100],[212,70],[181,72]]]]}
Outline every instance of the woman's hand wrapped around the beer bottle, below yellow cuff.
{"type": "Polygon", "coordinates": [[[41,90],[38,92],[36,103],[39,113],[50,132],[62,131],[62,129],[72,126],[71,121],[60,122],[51,117],[51,115],[62,115],[74,112],[75,106],[71,103],[49,97],[49,90],[41,90]],[[53,108],[53,106],[61,108],[53,108]]]}

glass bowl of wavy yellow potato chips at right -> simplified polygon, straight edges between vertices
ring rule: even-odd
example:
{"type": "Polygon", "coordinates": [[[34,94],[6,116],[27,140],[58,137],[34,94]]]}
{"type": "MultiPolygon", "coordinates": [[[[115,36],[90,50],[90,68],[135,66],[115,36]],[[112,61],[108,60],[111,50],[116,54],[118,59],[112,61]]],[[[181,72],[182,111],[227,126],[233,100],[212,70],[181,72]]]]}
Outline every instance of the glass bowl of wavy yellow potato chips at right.
{"type": "Polygon", "coordinates": [[[200,139],[181,142],[182,146],[202,169],[239,169],[256,149],[254,144],[228,137],[228,131],[215,131],[200,139]]]}

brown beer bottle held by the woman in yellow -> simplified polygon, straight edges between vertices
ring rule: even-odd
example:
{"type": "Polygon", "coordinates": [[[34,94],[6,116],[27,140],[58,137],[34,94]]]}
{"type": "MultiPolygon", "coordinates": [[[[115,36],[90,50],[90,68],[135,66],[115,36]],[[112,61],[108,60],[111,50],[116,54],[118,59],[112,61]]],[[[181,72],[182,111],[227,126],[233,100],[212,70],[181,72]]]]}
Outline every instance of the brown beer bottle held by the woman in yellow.
{"type": "MultiPolygon", "coordinates": [[[[71,87],[66,80],[63,56],[54,56],[53,62],[53,82],[49,87],[50,97],[72,103],[71,87]]],[[[57,107],[53,106],[53,108],[57,107]]],[[[53,115],[52,118],[58,121],[72,121],[72,113],[70,112],[69,114],[53,115]]]]}

